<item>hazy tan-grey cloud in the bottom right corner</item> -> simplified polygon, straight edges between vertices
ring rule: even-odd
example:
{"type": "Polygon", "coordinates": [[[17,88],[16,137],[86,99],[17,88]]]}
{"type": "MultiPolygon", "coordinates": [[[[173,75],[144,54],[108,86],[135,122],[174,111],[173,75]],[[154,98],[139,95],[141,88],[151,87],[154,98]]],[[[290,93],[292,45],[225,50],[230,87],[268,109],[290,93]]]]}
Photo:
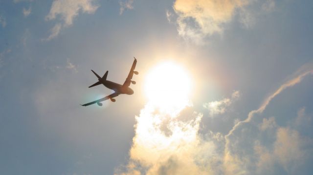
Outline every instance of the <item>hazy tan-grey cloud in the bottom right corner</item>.
{"type": "Polygon", "coordinates": [[[287,173],[297,174],[296,170],[307,161],[312,152],[312,139],[300,136],[299,132],[289,127],[276,130],[272,145],[263,146],[259,141],[254,145],[257,156],[256,168],[260,174],[275,174],[275,165],[280,165],[287,173]],[[271,173],[269,173],[271,172],[271,173]]]}

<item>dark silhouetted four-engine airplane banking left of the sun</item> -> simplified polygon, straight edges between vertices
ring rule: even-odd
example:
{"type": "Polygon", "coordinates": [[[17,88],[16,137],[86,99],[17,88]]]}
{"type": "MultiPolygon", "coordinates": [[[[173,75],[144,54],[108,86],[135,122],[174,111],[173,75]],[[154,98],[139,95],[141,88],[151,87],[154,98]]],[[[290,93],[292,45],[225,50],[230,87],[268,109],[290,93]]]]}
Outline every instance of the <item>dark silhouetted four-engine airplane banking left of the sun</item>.
{"type": "Polygon", "coordinates": [[[98,78],[98,82],[92,84],[91,86],[89,86],[89,88],[91,88],[93,86],[97,86],[99,84],[103,84],[105,87],[112,89],[114,91],[114,93],[107,96],[107,97],[103,97],[103,98],[97,99],[95,101],[92,101],[92,102],[89,102],[89,103],[86,103],[83,105],[81,104],[81,105],[82,106],[89,106],[91,104],[97,103],[99,106],[102,106],[101,101],[110,99],[112,102],[115,102],[114,97],[117,97],[120,94],[127,94],[127,95],[134,94],[133,89],[131,89],[129,86],[131,85],[131,83],[136,84],[136,81],[132,80],[134,74],[138,75],[138,72],[134,71],[134,69],[136,67],[136,63],[137,63],[137,59],[134,58],[132,68],[131,68],[131,70],[130,70],[130,72],[129,72],[123,85],[107,80],[109,71],[107,71],[104,74],[104,76],[101,78],[97,73],[95,73],[93,70],[91,70],[91,72],[98,78]]]}

